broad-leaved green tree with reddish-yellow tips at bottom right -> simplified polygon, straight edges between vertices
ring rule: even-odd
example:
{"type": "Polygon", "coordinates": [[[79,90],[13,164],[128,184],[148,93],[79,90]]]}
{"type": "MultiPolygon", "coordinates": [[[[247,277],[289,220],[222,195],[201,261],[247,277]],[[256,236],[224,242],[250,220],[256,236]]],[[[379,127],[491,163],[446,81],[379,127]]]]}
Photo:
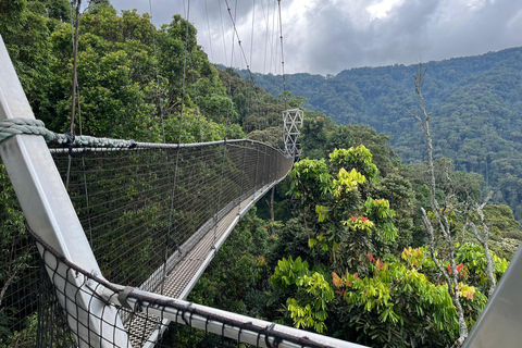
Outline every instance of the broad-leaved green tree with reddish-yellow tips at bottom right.
{"type": "MultiPolygon", "coordinates": [[[[458,294],[465,321],[472,325],[487,298],[467,283],[468,268],[473,263],[463,261],[465,265],[459,264],[458,294]]],[[[425,248],[405,249],[400,260],[370,254],[365,262],[362,273],[333,273],[333,284],[340,295],[334,301],[339,334],[348,336],[355,330],[360,337],[363,334],[361,343],[380,347],[452,344],[459,333],[456,309],[425,248]]]]}

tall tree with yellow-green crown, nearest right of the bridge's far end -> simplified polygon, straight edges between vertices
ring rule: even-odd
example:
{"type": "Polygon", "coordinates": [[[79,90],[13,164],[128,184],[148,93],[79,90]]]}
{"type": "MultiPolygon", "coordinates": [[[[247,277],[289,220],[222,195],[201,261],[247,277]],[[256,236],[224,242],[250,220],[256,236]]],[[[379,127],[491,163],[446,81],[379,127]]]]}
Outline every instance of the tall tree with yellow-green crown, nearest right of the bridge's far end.
{"type": "Polygon", "coordinates": [[[364,256],[395,240],[395,212],[388,201],[368,197],[362,187],[376,175],[372,154],[363,146],[335,150],[327,164],[324,160],[301,160],[290,172],[289,194],[302,210],[287,227],[303,227],[304,233],[294,229],[290,235],[306,237],[287,249],[290,256],[278,261],[271,283],[278,301],[285,301],[285,313],[294,325],[323,332],[327,303],[334,298],[328,270],[365,268],[361,263],[364,256]],[[307,239],[309,250],[302,246],[307,239]],[[294,260],[291,253],[296,251],[311,257],[315,271],[310,271],[299,256],[294,260]]]}

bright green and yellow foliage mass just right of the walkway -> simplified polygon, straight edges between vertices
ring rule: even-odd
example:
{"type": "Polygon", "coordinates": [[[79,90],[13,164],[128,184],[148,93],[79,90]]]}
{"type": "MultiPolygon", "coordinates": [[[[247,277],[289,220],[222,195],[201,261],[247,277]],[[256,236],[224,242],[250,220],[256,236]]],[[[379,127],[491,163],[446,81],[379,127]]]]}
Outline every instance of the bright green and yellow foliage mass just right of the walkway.
{"type": "MultiPolygon", "coordinates": [[[[452,345],[459,325],[447,285],[427,249],[411,247],[411,231],[395,225],[407,219],[400,215],[408,210],[396,212],[390,208],[395,199],[383,195],[395,191],[397,198],[406,192],[402,202],[414,197],[395,186],[407,178],[389,176],[395,179],[381,176],[362,145],[334,150],[328,160],[296,163],[289,179],[295,217],[270,224],[247,219],[248,228],[236,229],[191,298],[370,346],[452,345]],[[237,251],[238,241],[244,253],[237,251]],[[234,287],[228,279],[235,281],[234,287]],[[241,299],[240,293],[248,295],[241,299]]],[[[512,216],[509,221],[515,224],[512,216]]],[[[461,227],[456,223],[458,235],[461,227]]],[[[471,236],[464,239],[456,245],[456,270],[471,327],[487,301],[488,279],[484,250],[471,236]]],[[[508,262],[495,254],[493,259],[498,279],[508,262]]],[[[444,266],[449,270],[448,262],[444,266]]]]}

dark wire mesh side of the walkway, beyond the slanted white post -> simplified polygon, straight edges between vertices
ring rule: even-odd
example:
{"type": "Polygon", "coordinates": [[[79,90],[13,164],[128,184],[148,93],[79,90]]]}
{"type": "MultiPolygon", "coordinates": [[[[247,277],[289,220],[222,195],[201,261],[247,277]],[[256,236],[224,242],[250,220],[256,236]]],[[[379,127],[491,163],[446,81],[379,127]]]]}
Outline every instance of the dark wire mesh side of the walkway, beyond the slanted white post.
{"type": "Polygon", "coordinates": [[[151,291],[213,222],[282,178],[293,161],[250,140],[53,158],[103,275],[151,291]]]}

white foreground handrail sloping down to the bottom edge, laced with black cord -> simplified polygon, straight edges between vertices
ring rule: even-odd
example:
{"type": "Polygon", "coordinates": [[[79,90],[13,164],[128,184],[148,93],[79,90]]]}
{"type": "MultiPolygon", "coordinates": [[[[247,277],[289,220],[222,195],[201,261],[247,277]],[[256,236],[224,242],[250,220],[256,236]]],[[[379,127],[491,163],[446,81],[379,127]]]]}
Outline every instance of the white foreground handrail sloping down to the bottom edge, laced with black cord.
{"type": "MultiPolygon", "coordinates": [[[[190,331],[192,327],[198,327],[204,332],[212,332],[222,337],[227,336],[236,339],[238,344],[248,343],[257,347],[366,348],[311,332],[108,282],[101,275],[91,274],[71,262],[40,238],[30,227],[27,226],[27,229],[42,250],[44,268],[52,273],[53,277],[60,278],[63,283],[63,288],[57,288],[59,294],[65,294],[69,286],[74,286],[69,278],[62,278],[62,275],[59,273],[60,268],[84,278],[86,287],[94,290],[94,295],[90,296],[98,296],[105,300],[107,303],[111,303],[121,315],[139,312],[153,314],[160,318],[160,321],[157,321],[157,323],[161,323],[161,319],[164,318],[174,323],[188,325],[190,331]]],[[[80,288],[78,291],[86,293],[86,289],[80,288]]],[[[151,320],[151,323],[154,322],[151,320]]]]}

